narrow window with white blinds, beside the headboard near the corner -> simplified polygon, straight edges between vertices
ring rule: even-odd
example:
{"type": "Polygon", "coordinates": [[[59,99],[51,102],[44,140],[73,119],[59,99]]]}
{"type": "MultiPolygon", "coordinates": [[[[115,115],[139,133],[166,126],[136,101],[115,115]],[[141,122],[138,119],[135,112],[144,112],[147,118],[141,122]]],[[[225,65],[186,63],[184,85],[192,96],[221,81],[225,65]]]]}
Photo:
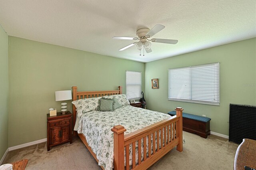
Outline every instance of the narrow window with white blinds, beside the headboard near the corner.
{"type": "Polygon", "coordinates": [[[126,96],[127,99],[140,99],[141,97],[141,72],[126,71],[126,96]]]}

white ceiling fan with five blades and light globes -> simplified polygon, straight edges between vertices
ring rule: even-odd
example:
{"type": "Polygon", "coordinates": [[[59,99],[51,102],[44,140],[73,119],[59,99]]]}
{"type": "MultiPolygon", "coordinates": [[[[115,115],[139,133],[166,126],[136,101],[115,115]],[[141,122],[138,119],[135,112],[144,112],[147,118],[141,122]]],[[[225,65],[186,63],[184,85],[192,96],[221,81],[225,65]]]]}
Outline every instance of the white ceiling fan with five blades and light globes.
{"type": "Polygon", "coordinates": [[[144,49],[146,50],[147,53],[152,52],[150,41],[158,42],[158,43],[170,43],[170,44],[176,44],[178,42],[178,40],[169,40],[169,39],[159,39],[159,38],[152,38],[151,40],[148,39],[148,38],[151,38],[152,36],[154,36],[156,33],[160,32],[164,28],[165,28],[165,26],[163,26],[161,24],[156,24],[151,30],[149,30],[148,28],[140,28],[139,30],[137,30],[136,34],[137,34],[138,38],[115,36],[115,37],[113,37],[113,39],[115,39],[115,40],[139,40],[138,42],[131,43],[130,45],[127,45],[127,46],[119,49],[119,51],[123,51],[124,49],[127,49],[127,48],[132,47],[133,45],[137,44],[136,46],[137,46],[138,50],[141,51],[143,49],[143,56],[144,56],[144,49]]]}

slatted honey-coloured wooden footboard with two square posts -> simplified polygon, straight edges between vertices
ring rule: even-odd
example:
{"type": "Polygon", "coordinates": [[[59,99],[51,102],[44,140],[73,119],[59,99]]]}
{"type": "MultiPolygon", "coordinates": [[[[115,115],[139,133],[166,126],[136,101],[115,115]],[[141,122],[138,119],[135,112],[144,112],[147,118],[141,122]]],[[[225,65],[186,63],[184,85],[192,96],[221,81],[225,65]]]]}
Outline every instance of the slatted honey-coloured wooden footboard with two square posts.
{"type": "Polygon", "coordinates": [[[124,135],[126,129],[117,125],[111,130],[114,132],[114,169],[116,170],[130,170],[130,169],[147,169],[157,160],[162,158],[172,148],[177,146],[177,150],[182,152],[182,111],[180,107],[176,108],[176,116],[170,117],[148,127],[142,128],[130,134],[124,135]],[[173,127],[173,129],[172,129],[173,127]],[[166,130],[167,129],[167,130],[166,130]],[[170,129],[170,130],[169,130],[170,129]],[[164,133],[163,133],[164,131],[164,133]],[[175,135],[176,132],[176,135],[175,135]],[[156,135],[156,136],[155,136],[156,135]],[[148,143],[146,138],[148,137],[148,143]],[[151,144],[151,137],[153,138],[151,144]],[[155,140],[155,137],[157,137],[155,140]],[[164,140],[165,139],[165,140],[164,140]],[[142,153],[141,140],[143,140],[143,160],[140,159],[142,153]],[[135,146],[138,142],[138,164],[136,164],[135,146]],[[157,142],[157,143],[156,143],[157,142]],[[126,148],[126,164],[129,165],[129,145],[132,144],[132,167],[124,164],[124,148],[126,148]],[[148,146],[147,146],[148,145],[148,146]],[[153,153],[151,153],[153,147],[153,153]],[[148,155],[146,150],[148,149],[148,155]],[[127,163],[128,162],[128,163],[127,163]]]}

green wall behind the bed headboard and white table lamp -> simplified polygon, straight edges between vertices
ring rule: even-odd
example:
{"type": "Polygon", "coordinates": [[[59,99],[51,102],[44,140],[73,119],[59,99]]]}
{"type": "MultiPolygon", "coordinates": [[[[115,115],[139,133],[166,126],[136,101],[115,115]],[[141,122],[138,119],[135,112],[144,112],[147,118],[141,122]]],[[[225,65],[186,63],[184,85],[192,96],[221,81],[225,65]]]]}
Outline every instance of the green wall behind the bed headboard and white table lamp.
{"type": "MultiPolygon", "coordinates": [[[[9,36],[9,147],[46,138],[46,113],[60,111],[55,91],[117,89],[144,63],[9,36]]],[[[142,81],[144,90],[144,81],[142,81]]],[[[71,101],[67,101],[72,111],[71,101]]]]}

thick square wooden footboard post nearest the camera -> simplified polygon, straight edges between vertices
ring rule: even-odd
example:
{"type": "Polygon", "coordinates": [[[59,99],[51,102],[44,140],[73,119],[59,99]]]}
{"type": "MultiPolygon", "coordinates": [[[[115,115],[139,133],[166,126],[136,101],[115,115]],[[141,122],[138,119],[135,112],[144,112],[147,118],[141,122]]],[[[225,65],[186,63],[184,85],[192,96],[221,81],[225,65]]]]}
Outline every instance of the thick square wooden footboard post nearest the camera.
{"type": "Polygon", "coordinates": [[[111,130],[114,132],[114,169],[124,170],[124,132],[126,129],[122,125],[117,125],[111,130]]]}

